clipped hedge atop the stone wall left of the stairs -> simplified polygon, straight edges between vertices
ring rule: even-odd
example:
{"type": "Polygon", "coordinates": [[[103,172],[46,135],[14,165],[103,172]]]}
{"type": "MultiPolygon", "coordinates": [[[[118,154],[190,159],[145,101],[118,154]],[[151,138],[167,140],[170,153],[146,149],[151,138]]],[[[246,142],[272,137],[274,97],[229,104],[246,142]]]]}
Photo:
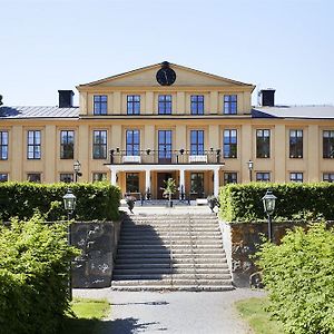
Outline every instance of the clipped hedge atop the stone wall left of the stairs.
{"type": "Polygon", "coordinates": [[[119,217],[120,190],[107,183],[52,184],[2,183],[0,184],[0,219],[31,218],[38,209],[47,220],[67,217],[62,196],[71,188],[77,197],[77,220],[114,220],[119,217]]]}

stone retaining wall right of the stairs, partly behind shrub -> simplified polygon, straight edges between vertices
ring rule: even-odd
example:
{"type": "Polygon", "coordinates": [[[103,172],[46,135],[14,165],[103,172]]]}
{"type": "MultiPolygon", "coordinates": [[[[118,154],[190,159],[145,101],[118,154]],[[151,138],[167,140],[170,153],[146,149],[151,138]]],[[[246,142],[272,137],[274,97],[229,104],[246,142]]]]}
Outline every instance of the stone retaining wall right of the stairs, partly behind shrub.
{"type": "MultiPolygon", "coordinates": [[[[279,244],[287,229],[296,226],[306,228],[306,223],[285,222],[273,223],[273,240],[279,244]]],[[[334,226],[328,222],[328,226],[334,226]]],[[[224,223],[220,222],[224,248],[232,272],[233,283],[237,287],[249,287],[249,276],[258,271],[252,255],[262,243],[262,235],[267,236],[267,223],[224,223]]]]}

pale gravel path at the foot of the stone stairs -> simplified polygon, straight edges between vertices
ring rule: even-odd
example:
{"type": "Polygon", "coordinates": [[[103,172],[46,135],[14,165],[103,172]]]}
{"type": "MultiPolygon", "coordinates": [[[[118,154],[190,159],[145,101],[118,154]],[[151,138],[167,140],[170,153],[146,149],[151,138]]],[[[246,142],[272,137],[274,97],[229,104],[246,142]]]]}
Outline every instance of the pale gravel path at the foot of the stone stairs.
{"type": "Polygon", "coordinates": [[[107,298],[111,317],[101,334],[177,333],[249,334],[234,302],[264,296],[261,291],[238,288],[232,292],[112,292],[75,289],[75,296],[107,298]]]}

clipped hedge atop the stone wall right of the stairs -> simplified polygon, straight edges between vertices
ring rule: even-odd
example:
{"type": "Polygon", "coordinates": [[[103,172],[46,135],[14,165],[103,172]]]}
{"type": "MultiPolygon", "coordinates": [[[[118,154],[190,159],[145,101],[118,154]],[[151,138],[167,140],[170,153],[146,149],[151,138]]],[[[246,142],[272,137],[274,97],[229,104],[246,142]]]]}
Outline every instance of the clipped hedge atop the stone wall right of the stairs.
{"type": "Polygon", "coordinates": [[[226,222],[265,219],[262,197],[271,188],[277,197],[274,219],[301,220],[323,217],[334,219],[334,184],[227,185],[220,188],[220,217],[226,222]]]}

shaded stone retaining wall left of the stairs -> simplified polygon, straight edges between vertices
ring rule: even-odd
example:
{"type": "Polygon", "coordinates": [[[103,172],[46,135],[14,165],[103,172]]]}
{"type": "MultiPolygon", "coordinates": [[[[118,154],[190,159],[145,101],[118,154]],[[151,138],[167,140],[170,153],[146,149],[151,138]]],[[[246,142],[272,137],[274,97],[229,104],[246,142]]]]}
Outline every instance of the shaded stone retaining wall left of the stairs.
{"type": "Polygon", "coordinates": [[[120,222],[71,225],[71,245],[82,250],[72,262],[72,287],[110,286],[120,225],[120,222]]]}

